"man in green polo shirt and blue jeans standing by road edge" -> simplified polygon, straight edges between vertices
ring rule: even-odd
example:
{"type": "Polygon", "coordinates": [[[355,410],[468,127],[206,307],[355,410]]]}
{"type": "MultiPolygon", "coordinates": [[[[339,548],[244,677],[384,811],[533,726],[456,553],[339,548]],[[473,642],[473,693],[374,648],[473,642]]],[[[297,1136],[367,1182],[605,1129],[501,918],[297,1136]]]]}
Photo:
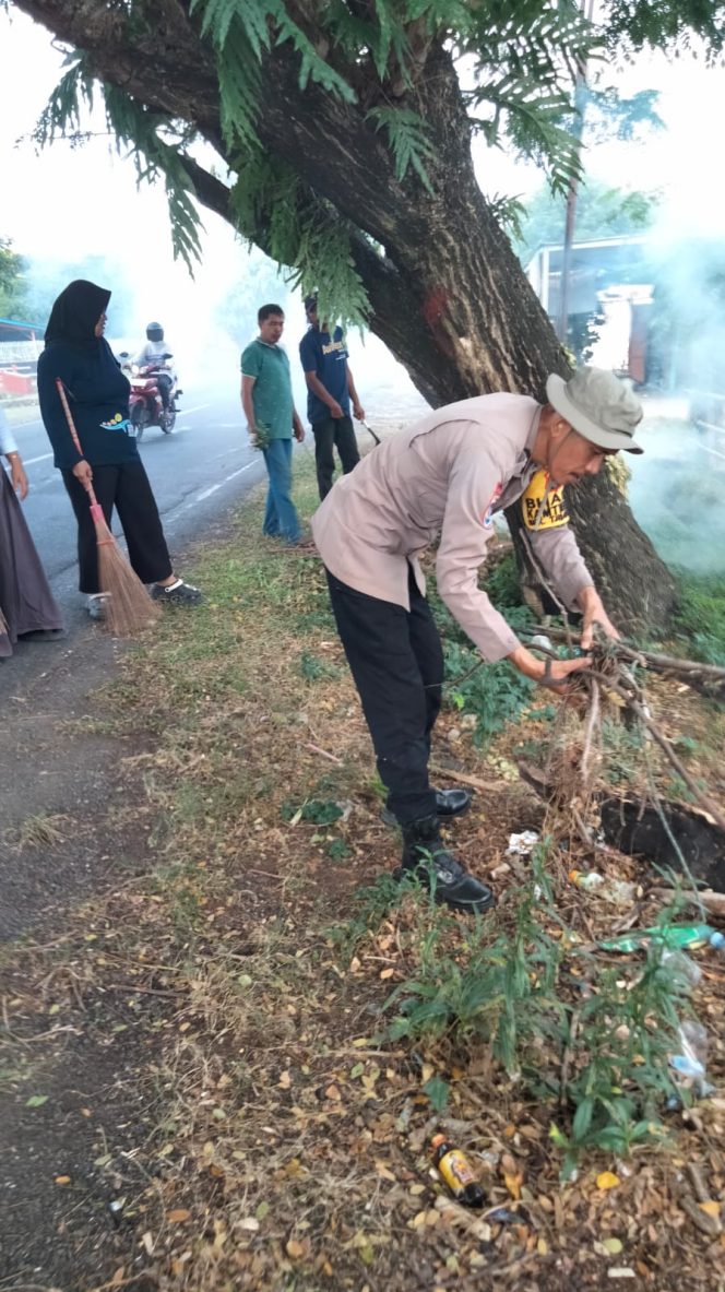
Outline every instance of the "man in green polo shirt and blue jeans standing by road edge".
{"type": "Polygon", "coordinates": [[[292,501],[292,433],[305,430],[292,399],[289,359],[279,345],[284,313],[262,305],[258,337],[242,354],[242,407],[252,443],[264,453],[269,491],[262,530],[270,539],[300,547],[300,518],[292,501]]]}

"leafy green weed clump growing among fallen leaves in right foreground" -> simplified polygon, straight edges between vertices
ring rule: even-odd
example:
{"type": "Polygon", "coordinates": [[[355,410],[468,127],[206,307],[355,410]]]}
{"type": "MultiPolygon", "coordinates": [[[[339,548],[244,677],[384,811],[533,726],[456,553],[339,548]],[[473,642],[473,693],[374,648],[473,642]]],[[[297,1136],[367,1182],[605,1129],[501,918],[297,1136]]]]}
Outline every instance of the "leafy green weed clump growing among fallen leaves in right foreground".
{"type": "Polygon", "coordinates": [[[397,1043],[429,1041],[438,1054],[447,1043],[451,1056],[472,1057],[483,1047],[548,1107],[567,1177],[587,1151],[625,1156],[666,1138],[664,1105],[678,1090],[668,1057],[685,1006],[658,956],[611,965],[578,947],[553,904],[547,855],[540,845],[505,908],[465,932],[421,897],[417,966],[385,1010],[397,1043]]]}

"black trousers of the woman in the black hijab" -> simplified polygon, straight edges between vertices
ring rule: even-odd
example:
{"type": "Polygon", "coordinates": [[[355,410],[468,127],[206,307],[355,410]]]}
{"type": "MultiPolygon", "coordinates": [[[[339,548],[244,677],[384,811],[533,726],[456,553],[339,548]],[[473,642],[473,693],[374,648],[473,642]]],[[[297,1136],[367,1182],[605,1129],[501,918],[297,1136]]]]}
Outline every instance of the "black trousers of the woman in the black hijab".
{"type": "MultiPolygon", "coordinates": [[[[88,494],[72,472],[66,470],[62,475],[78,521],[79,589],[84,593],[100,592],[96,526],[90,518],[88,494]]],[[[173,572],[171,557],[143,463],[136,460],[119,466],[94,466],[93,490],[109,528],[116,509],[128,559],[141,583],[168,579],[173,572]]]]}

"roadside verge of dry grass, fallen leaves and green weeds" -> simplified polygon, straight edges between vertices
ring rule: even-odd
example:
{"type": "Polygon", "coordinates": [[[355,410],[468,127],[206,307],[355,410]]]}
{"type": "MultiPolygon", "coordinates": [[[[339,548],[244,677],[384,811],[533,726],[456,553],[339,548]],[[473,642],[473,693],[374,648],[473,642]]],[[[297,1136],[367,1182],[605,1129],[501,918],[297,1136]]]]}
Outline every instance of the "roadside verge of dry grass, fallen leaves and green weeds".
{"type": "MultiPolygon", "coordinates": [[[[311,459],[299,494],[309,513],[311,459]]],[[[582,718],[505,665],[472,673],[476,654],[437,602],[450,676],[434,762],[447,783],[477,782],[452,833],[500,902],[465,921],[397,885],[399,842],[380,820],[320,566],[264,540],[260,512],[199,553],[204,610],[169,614],[128,650],[98,718],[151,736],[124,773],[155,864],[119,875],[62,938],[13,947],[3,970],[3,1080],[25,1109],[54,1115],[53,1065],[89,1019],[109,1044],[121,1028],[133,1056],[116,1079],[142,1090],[136,1142],[98,1143],[93,1167],[134,1255],[98,1287],[721,1287],[722,961],[700,952],[686,991],[659,953],[600,946],[690,919],[686,890],[651,895],[662,879],[614,853],[607,875],[633,885],[625,908],[570,882],[592,859],[516,757],[556,762],[582,718]],[[507,851],[525,829],[539,836],[530,855],[507,851]],[[669,1063],[685,1019],[709,1037],[707,1098],[669,1063]],[[483,1213],[432,1171],[438,1129],[469,1155],[483,1213]]],[[[491,583],[521,623],[505,558],[491,583]]],[[[684,587],[686,640],[721,651],[724,606],[721,583],[684,587]]],[[[660,678],[649,694],[722,797],[722,712],[660,678]]],[[[602,778],[616,766],[628,789],[671,792],[667,765],[620,718],[613,704],[602,778]]],[[[68,828],[35,818],[18,846],[68,828]]]]}

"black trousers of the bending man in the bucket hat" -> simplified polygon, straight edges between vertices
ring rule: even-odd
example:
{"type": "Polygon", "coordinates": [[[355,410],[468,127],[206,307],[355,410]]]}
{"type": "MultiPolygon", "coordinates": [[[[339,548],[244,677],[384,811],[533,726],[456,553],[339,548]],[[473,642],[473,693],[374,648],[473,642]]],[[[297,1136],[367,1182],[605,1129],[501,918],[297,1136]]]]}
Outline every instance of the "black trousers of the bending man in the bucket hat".
{"type": "Polygon", "coordinates": [[[388,808],[401,824],[430,817],[430,733],[441,711],[443,650],[430,606],[408,575],[410,612],[327,572],[337,632],[359,691],[388,808]]]}

